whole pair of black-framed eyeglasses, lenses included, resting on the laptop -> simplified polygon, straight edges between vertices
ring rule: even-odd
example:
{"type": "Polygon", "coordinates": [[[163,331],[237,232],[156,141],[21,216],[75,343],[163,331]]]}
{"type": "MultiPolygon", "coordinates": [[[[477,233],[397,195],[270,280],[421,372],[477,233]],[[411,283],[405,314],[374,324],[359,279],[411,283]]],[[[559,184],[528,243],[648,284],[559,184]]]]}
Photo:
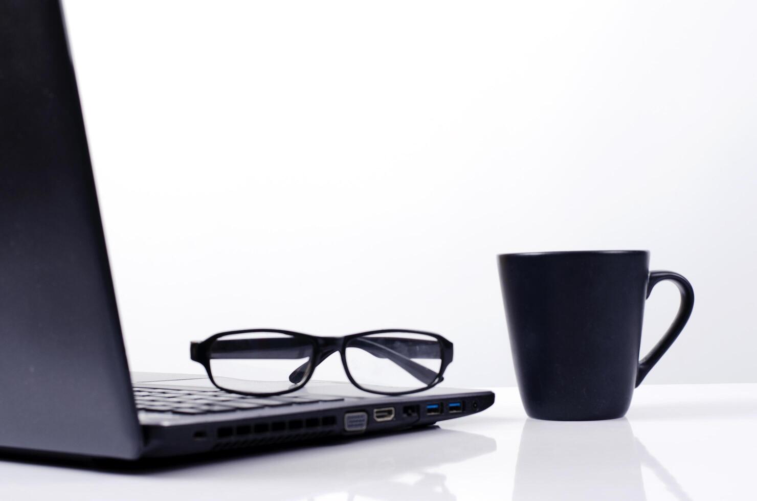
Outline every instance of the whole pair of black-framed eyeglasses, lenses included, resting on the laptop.
{"type": "Polygon", "coordinates": [[[322,338],[254,328],[221,332],[193,342],[191,357],[221,390],[254,397],[287,394],[303,387],[320,363],[341,354],[347,378],[363,391],[403,395],[444,380],[452,343],[438,334],[403,329],[322,338]]]}

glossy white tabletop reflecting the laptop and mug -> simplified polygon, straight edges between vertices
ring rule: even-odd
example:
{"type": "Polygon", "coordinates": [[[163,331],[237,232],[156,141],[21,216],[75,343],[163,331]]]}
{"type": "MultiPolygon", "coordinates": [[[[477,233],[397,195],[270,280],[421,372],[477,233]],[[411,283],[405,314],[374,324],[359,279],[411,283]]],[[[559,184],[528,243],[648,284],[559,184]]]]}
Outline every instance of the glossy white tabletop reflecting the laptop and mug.
{"type": "Polygon", "coordinates": [[[0,459],[0,499],[757,499],[757,384],[646,385],[626,419],[469,418],[160,471],[0,459]]]}

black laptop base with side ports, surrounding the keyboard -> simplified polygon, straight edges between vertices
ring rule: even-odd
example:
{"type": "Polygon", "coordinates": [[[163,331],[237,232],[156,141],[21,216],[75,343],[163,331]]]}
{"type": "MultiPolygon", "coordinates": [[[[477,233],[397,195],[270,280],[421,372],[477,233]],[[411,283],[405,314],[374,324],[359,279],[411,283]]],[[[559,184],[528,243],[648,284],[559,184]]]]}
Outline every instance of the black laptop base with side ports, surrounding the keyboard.
{"type": "MultiPolygon", "coordinates": [[[[138,390],[150,388],[168,394],[215,390],[207,378],[198,375],[132,373],[132,381],[138,390]]],[[[433,425],[481,412],[494,403],[491,391],[435,387],[420,394],[376,396],[349,383],[330,381],[311,381],[302,390],[282,397],[291,397],[291,403],[201,415],[139,412],[147,439],[142,457],[185,456],[278,443],[355,438],[433,425]]],[[[248,400],[256,401],[254,397],[248,400]]]]}

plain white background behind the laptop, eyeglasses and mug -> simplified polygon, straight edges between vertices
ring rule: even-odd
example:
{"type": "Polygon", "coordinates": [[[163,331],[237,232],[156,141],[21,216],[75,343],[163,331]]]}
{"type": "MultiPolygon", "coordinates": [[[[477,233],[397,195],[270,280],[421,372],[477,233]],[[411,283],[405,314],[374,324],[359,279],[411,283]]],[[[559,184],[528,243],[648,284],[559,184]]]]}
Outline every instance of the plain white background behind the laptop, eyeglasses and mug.
{"type": "Polygon", "coordinates": [[[496,254],[643,248],[646,381],[757,381],[754,3],[64,7],[132,369],[404,327],[512,385],[496,254]]]}

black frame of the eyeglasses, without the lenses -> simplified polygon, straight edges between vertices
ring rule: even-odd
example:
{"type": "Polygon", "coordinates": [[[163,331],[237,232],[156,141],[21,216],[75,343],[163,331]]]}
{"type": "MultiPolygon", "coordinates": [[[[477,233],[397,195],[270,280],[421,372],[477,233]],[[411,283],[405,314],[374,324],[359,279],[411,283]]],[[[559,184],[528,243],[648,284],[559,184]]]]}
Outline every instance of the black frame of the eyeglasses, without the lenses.
{"type": "Polygon", "coordinates": [[[205,341],[192,341],[189,347],[189,357],[195,362],[201,364],[201,366],[205,368],[205,372],[207,372],[207,377],[210,378],[210,382],[212,382],[215,387],[223,391],[228,391],[229,393],[239,394],[239,395],[249,395],[251,397],[275,397],[276,395],[284,395],[284,394],[291,393],[293,391],[298,391],[301,387],[304,387],[308,381],[310,381],[311,377],[313,377],[313,372],[315,372],[316,366],[319,366],[319,364],[322,363],[323,360],[325,360],[329,356],[332,356],[336,352],[339,352],[341,355],[341,365],[344,367],[344,372],[347,374],[347,379],[349,379],[350,383],[354,384],[355,387],[360,388],[360,390],[367,391],[368,393],[378,394],[378,395],[407,395],[407,394],[419,393],[420,391],[426,391],[429,388],[435,387],[437,384],[441,383],[441,381],[444,381],[444,371],[447,369],[447,366],[449,366],[450,363],[452,363],[453,344],[452,344],[452,341],[449,341],[447,338],[444,338],[444,336],[435,334],[433,332],[414,331],[414,330],[402,329],[402,328],[385,328],[385,329],[380,329],[378,331],[359,332],[357,334],[351,334],[351,335],[342,336],[338,338],[314,336],[310,334],[303,334],[302,332],[285,331],[278,328],[251,328],[251,329],[242,329],[240,331],[219,332],[218,334],[214,334],[210,336],[210,338],[207,338],[205,341]],[[245,391],[230,390],[229,388],[223,387],[215,381],[215,379],[213,378],[213,370],[210,369],[210,360],[211,360],[210,347],[213,345],[213,343],[217,341],[217,339],[223,338],[224,336],[237,335],[237,334],[254,334],[255,332],[270,332],[273,334],[289,335],[294,338],[305,339],[309,341],[310,344],[313,345],[313,355],[311,356],[310,363],[308,363],[307,374],[304,376],[304,378],[302,378],[302,381],[299,384],[297,384],[294,387],[288,388],[286,390],[277,391],[273,393],[252,393],[252,392],[245,392],[245,391]],[[363,387],[360,384],[358,384],[357,381],[355,381],[355,379],[352,377],[352,374],[350,374],[350,369],[347,366],[347,345],[350,343],[350,341],[355,338],[361,338],[361,337],[375,335],[375,334],[390,334],[392,332],[396,332],[398,334],[426,335],[426,336],[430,336],[431,338],[435,338],[439,342],[439,345],[441,347],[441,366],[439,366],[439,371],[438,371],[438,374],[436,375],[436,378],[433,381],[431,381],[431,383],[429,383],[427,386],[418,388],[416,390],[409,390],[409,391],[397,391],[397,392],[375,391],[375,390],[369,390],[368,388],[363,387]]]}

